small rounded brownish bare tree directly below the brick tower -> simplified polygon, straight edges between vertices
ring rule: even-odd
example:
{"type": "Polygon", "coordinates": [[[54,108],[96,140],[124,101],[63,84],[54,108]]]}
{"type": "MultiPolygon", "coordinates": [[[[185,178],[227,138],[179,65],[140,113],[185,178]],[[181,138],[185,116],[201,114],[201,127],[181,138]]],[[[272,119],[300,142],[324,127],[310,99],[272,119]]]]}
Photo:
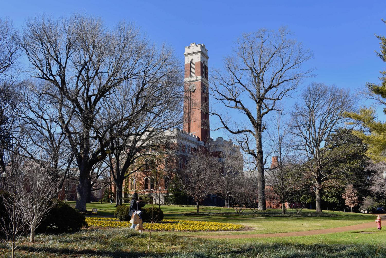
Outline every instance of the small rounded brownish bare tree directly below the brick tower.
{"type": "Polygon", "coordinates": [[[215,182],[220,174],[218,159],[206,149],[198,149],[192,154],[181,173],[177,173],[182,190],[197,203],[197,213],[200,202],[215,191],[215,182]]]}

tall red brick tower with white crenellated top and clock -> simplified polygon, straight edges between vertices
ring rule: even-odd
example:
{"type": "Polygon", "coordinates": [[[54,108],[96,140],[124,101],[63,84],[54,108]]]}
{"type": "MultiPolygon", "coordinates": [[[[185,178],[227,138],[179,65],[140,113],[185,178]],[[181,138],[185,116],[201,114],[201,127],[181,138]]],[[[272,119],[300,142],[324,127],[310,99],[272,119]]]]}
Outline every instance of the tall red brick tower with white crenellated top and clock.
{"type": "Polygon", "coordinates": [[[204,44],[185,47],[185,101],[183,130],[209,141],[208,50],[204,44]]]}

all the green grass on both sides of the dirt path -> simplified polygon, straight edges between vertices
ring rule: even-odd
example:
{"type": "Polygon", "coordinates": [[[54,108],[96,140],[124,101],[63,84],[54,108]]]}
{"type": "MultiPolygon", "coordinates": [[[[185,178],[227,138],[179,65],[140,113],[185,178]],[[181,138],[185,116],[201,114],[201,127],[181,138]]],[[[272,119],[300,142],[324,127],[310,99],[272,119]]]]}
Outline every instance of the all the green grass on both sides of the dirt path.
{"type": "MultiPolygon", "coordinates": [[[[69,203],[74,205],[74,203],[69,203]]],[[[110,203],[91,203],[87,209],[98,208],[98,216],[111,217],[115,210],[110,203]]],[[[36,243],[22,239],[17,249],[20,258],[375,258],[386,257],[386,232],[374,228],[364,232],[341,232],[299,237],[269,237],[258,239],[200,239],[195,234],[251,234],[290,232],[339,227],[374,220],[374,215],[325,212],[334,217],[281,217],[279,210],[259,213],[259,217],[230,215],[220,207],[202,207],[207,215],[180,215],[194,212],[195,207],[161,206],[166,219],[206,220],[230,222],[251,227],[234,232],[152,232],[149,251],[149,232],[139,234],[128,228],[82,229],[59,235],[38,234],[36,243]],[[212,215],[208,215],[212,214],[212,215]],[[371,234],[367,234],[371,233],[371,234]]],[[[304,210],[313,215],[313,210],[304,210]]],[[[0,253],[8,255],[4,243],[0,253]]]]}

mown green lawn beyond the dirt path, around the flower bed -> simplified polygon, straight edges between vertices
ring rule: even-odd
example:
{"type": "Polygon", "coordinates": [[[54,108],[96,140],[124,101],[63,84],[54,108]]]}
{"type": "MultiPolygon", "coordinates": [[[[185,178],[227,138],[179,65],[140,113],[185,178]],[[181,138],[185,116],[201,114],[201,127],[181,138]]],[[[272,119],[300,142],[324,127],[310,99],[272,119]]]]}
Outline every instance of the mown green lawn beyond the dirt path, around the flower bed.
{"type": "MultiPolygon", "coordinates": [[[[74,205],[74,203],[70,204],[74,205]]],[[[147,205],[146,207],[151,206],[147,205]]],[[[114,205],[110,203],[88,203],[87,209],[98,208],[98,216],[112,217],[115,211],[114,205]]],[[[264,234],[264,233],[281,233],[294,231],[307,231],[314,229],[326,229],[332,227],[350,226],[364,222],[373,221],[374,214],[358,214],[350,212],[327,212],[326,215],[335,215],[334,217],[281,217],[280,210],[269,209],[268,212],[276,213],[277,216],[264,216],[267,212],[259,212],[261,217],[252,217],[251,212],[246,211],[242,215],[233,215],[232,208],[223,207],[207,207],[200,208],[200,212],[213,215],[181,215],[185,213],[195,212],[195,207],[179,207],[161,205],[164,212],[164,219],[184,219],[184,220],[200,220],[210,222],[227,222],[241,224],[247,227],[245,231],[220,231],[220,232],[176,232],[181,236],[194,235],[218,235],[218,234],[264,234]],[[249,213],[248,213],[249,212],[249,213]],[[222,215],[224,214],[224,215],[222,215]],[[232,215],[230,215],[232,214],[232,215]]],[[[289,212],[291,212],[289,210],[289,212]]],[[[315,210],[304,209],[304,213],[313,215],[315,210]]],[[[374,223],[375,227],[375,223],[374,223]]],[[[159,234],[158,232],[156,234],[159,234]]]]}

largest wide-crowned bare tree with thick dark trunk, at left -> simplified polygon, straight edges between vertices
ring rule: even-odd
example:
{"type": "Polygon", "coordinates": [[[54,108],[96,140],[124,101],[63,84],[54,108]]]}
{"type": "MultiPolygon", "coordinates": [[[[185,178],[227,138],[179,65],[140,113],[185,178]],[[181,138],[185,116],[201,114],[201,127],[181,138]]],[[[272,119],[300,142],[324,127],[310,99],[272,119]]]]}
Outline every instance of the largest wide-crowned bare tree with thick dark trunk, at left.
{"type": "Polygon", "coordinates": [[[155,51],[147,42],[134,24],[108,29],[100,19],[83,15],[34,17],[20,37],[32,76],[47,82],[44,94],[56,103],[58,121],[74,154],[80,211],[86,211],[91,169],[112,153],[117,135],[110,132],[127,119],[105,111],[104,103],[113,101],[118,87],[146,79],[144,74],[154,65],[149,56],[155,51]]]}

